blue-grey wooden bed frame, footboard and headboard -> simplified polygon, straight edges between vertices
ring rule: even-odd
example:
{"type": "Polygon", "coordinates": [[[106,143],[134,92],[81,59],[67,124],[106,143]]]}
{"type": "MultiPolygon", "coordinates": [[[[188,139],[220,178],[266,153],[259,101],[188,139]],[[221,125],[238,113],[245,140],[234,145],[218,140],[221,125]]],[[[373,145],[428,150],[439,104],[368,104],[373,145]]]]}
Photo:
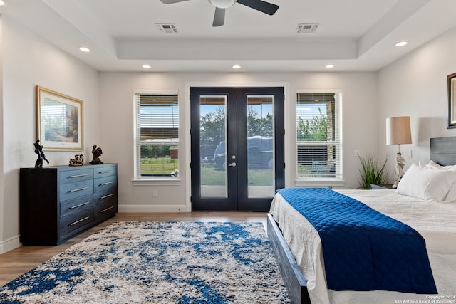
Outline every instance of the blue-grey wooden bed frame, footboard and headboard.
{"type": "MultiPolygon", "coordinates": [[[[430,139],[430,159],[442,166],[456,164],[456,136],[430,139]]],[[[271,214],[267,214],[267,233],[276,254],[291,303],[311,304],[307,280],[301,272],[284,236],[271,214]]]]}

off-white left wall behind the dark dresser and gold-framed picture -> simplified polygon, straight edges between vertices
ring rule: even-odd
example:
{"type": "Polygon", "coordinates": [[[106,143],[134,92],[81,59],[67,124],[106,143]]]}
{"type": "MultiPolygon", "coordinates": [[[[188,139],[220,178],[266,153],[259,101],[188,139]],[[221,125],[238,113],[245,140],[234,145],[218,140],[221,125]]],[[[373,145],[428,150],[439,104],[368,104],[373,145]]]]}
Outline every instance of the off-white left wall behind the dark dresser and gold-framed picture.
{"type": "MultiPolygon", "coordinates": [[[[92,142],[98,142],[100,138],[98,72],[4,16],[1,24],[3,132],[0,168],[3,179],[0,179],[0,253],[19,246],[19,168],[34,167],[36,161],[33,148],[36,141],[35,86],[83,100],[83,154],[86,157],[91,156],[92,142]]],[[[48,166],[68,164],[76,154],[45,152],[51,162],[48,166]]]]}

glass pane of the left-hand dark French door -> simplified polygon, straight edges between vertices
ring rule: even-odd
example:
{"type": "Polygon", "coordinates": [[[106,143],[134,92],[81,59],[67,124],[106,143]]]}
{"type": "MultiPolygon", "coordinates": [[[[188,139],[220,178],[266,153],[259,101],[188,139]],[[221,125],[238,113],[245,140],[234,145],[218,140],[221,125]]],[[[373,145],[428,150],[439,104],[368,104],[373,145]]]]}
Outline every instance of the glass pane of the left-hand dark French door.
{"type": "Polygon", "coordinates": [[[199,147],[201,196],[228,196],[227,187],[227,96],[199,98],[199,147]]]}

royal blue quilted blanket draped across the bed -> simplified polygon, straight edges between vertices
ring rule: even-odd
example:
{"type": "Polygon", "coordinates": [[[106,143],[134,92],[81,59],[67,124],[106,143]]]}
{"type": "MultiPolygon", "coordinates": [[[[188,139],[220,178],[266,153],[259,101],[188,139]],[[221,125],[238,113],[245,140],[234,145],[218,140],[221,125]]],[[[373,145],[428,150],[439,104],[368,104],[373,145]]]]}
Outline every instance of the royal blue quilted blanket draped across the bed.
{"type": "Polygon", "coordinates": [[[329,289],[437,293],[425,240],[410,226],[331,189],[278,192],[318,231],[329,289]]]}

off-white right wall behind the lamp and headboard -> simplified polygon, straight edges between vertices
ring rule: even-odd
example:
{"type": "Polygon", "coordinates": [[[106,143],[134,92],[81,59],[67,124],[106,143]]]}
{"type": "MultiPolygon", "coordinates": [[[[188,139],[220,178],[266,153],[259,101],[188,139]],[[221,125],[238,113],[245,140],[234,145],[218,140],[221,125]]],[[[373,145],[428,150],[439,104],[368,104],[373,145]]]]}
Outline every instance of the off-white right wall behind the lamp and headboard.
{"type": "Polygon", "coordinates": [[[413,144],[400,147],[405,169],[430,160],[431,137],[456,136],[447,129],[447,75],[456,72],[455,53],[453,28],[378,73],[378,147],[389,156],[391,181],[398,147],[385,145],[386,117],[410,116],[413,144]]]}

